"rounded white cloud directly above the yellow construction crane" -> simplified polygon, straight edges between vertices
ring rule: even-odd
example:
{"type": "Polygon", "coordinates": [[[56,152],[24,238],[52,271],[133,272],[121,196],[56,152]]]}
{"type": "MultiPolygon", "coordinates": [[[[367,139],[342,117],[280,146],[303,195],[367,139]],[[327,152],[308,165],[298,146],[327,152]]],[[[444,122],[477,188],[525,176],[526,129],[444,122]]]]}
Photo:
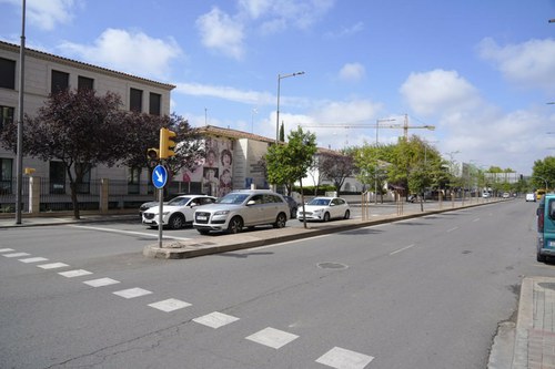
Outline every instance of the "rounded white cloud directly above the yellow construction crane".
{"type": "Polygon", "coordinates": [[[416,114],[436,115],[480,104],[477,90],[456,71],[411,73],[401,94],[416,114]]]}

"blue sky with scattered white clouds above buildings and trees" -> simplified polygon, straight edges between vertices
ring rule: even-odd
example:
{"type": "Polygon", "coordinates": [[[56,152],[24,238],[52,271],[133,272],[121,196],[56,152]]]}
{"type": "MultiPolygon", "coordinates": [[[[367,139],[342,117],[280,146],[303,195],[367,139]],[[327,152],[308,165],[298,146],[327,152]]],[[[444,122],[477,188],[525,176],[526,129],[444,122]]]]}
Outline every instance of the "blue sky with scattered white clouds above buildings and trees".
{"type": "MultiPolygon", "coordinates": [[[[21,9],[0,0],[1,40],[20,43],[21,9]]],[[[285,133],[320,147],[395,143],[406,120],[458,163],[529,175],[555,156],[555,0],[27,0],[26,13],[28,48],[171,83],[192,126],[275,139],[279,98],[285,133]]]]}

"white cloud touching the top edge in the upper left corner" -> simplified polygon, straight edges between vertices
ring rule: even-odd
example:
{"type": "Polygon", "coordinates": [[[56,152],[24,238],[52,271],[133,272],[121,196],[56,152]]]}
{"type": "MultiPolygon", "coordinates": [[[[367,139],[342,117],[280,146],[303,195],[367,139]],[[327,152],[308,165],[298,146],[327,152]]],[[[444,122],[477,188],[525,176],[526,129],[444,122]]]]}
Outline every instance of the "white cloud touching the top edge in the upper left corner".
{"type": "MultiPolygon", "coordinates": [[[[0,0],[21,8],[21,0],[0,0]]],[[[73,9],[78,0],[28,0],[26,2],[26,21],[28,25],[51,31],[58,24],[65,24],[73,19],[73,9]]]]}

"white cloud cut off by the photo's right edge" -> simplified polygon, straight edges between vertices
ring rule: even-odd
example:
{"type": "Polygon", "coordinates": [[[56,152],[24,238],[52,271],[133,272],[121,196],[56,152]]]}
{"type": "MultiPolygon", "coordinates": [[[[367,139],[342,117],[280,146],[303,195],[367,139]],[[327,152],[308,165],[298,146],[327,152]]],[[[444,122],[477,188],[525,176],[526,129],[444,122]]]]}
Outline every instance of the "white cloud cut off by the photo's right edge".
{"type": "Polygon", "coordinates": [[[526,88],[555,91],[555,40],[529,40],[500,47],[487,38],[478,44],[483,59],[495,63],[508,81],[526,88]]]}

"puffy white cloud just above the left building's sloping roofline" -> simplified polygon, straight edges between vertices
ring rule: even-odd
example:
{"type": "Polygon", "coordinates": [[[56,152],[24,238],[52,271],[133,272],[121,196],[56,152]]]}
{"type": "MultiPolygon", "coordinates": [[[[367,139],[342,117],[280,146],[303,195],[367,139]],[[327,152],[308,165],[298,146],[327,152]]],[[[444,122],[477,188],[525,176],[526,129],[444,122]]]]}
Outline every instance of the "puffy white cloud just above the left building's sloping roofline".
{"type": "Polygon", "coordinates": [[[59,49],[88,63],[157,79],[168,79],[169,63],[181,55],[181,49],[171,38],[161,40],[117,29],[102,32],[93,45],[64,42],[59,49]]]}

